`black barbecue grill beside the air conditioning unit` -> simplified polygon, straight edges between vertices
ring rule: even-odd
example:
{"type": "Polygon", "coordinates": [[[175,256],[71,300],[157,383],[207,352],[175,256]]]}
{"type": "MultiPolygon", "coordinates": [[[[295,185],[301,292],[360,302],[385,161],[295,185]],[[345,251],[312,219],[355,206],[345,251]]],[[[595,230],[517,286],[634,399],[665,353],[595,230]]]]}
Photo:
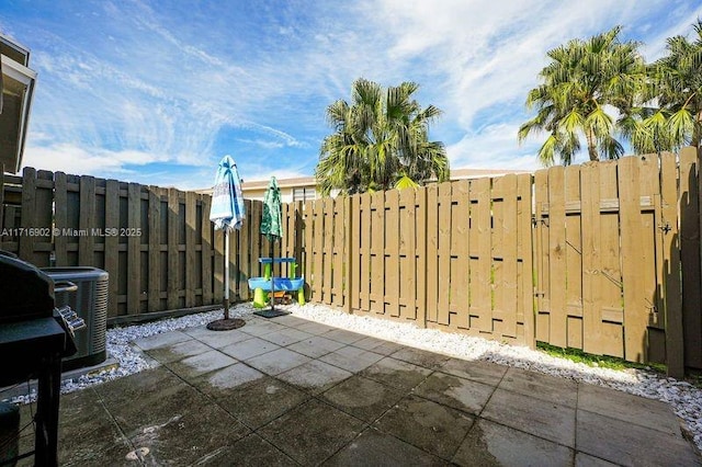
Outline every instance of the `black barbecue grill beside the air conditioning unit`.
{"type": "Polygon", "coordinates": [[[69,307],[55,308],[54,292],[72,287],[0,251],[0,387],[38,379],[35,465],[57,464],[61,358],[76,352],[73,329],[84,322],[69,307]]]}

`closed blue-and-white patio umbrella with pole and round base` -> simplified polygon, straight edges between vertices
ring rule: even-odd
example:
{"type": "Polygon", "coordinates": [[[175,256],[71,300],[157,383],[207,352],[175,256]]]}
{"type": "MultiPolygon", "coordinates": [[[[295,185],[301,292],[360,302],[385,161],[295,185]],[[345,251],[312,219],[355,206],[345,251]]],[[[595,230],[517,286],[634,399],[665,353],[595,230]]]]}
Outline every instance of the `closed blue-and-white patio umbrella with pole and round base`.
{"type": "Polygon", "coordinates": [[[224,319],[207,324],[207,329],[222,331],[239,328],[244,320],[229,319],[229,232],[240,229],[246,218],[244,196],[241,195],[241,179],[237,164],[231,156],[225,156],[219,161],[215,174],[215,186],[212,193],[210,220],[215,229],[224,230],[224,319]]]}

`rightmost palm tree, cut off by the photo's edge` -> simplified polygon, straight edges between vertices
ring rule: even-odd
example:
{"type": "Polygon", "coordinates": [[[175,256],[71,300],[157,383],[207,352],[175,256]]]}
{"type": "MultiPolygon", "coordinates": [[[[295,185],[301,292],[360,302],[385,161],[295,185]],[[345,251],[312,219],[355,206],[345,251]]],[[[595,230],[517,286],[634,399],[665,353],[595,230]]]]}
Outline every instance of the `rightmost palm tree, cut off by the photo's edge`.
{"type": "Polygon", "coordinates": [[[669,37],[668,54],[649,66],[646,99],[652,106],[634,115],[632,145],[637,151],[677,150],[702,143],[702,21],[694,42],[669,37]]]}

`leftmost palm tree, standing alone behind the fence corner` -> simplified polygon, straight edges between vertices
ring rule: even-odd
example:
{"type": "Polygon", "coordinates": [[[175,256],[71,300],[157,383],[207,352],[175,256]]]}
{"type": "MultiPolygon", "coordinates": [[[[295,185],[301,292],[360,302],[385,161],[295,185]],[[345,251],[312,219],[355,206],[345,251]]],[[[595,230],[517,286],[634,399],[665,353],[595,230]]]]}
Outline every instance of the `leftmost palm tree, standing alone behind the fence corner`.
{"type": "Polygon", "coordinates": [[[351,104],[340,100],[327,107],[335,132],[324,139],[315,170],[324,195],[333,189],[347,194],[389,190],[403,176],[417,183],[449,180],[444,146],[429,140],[429,125],[441,111],[422,109],[412,99],[418,89],[403,82],[384,91],[361,78],[353,82],[351,104]]]}

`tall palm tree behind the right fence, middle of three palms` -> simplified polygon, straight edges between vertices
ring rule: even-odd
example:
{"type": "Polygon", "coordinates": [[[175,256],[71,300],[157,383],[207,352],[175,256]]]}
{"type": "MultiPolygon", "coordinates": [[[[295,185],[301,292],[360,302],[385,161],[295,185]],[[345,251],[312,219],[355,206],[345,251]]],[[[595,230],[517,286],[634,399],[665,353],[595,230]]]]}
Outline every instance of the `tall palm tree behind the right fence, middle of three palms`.
{"type": "Polygon", "coordinates": [[[526,107],[535,107],[536,116],[525,122],[518,135],[521,143],[532,133],[548,133],[537,153],[543,164],[553,164],[556,157],[564,164],[571,163],[582,137],[590,160],[623,155],[614,137],[616,122],[608,110],[629,112],[632,96],[643,88],[645,64],[638,43],[622,43],[620,32],[616,26],[546,54],[551,62],[540,72],[543,83],[526,98],[526,107]]]}

